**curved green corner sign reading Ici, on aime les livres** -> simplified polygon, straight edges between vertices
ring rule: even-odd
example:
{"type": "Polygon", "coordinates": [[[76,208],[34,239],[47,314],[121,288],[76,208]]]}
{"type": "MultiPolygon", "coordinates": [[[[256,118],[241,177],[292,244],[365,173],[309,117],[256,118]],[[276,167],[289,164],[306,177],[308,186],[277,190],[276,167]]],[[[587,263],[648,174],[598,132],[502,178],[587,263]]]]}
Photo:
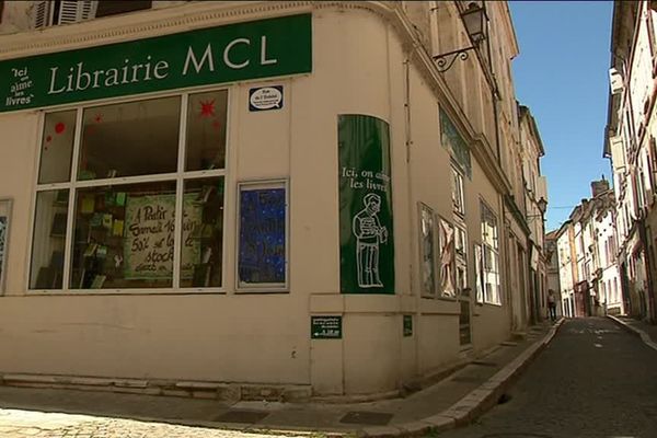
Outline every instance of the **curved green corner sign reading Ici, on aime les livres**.
{"type": "Polygon", "coordinates": [[[343,293],[394,293],[388,124],[338,118],[339,277],[343,293]]]}

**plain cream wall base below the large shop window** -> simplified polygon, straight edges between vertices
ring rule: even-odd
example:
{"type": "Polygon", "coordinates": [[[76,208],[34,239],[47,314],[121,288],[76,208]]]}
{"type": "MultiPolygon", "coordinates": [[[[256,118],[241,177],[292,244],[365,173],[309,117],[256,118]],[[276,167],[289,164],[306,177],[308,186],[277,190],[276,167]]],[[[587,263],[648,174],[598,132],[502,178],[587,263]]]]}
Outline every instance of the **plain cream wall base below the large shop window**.
{"type": "Polygon", "coordinates": [[[2,374],[310,384],[306,307],[289,296],[27,296],[0,303],[0,348],[11,351],[2,374]]]}

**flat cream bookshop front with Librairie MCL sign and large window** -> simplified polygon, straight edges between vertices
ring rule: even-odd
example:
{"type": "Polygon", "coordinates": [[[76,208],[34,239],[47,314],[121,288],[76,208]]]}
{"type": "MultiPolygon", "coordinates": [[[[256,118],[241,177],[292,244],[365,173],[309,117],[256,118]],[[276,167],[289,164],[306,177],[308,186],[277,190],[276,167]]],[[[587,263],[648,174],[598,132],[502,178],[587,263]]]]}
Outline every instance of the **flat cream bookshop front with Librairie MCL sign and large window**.
{"type": "Polygon", "coordinates": [[[289,99],[312,73],[311,20],[0,59],[5,383],[310,388],[289,99]]]}

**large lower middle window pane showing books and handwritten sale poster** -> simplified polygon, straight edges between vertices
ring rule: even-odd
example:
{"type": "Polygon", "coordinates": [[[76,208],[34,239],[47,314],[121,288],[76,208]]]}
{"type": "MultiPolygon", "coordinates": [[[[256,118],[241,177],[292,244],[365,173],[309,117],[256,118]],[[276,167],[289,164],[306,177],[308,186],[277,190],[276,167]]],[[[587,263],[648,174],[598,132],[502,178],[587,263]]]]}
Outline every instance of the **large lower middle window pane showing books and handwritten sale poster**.
{"type": "Polygon", "coordinates": [[[175,182],[76,194],[71,289],[171,287],[175,182]]]}

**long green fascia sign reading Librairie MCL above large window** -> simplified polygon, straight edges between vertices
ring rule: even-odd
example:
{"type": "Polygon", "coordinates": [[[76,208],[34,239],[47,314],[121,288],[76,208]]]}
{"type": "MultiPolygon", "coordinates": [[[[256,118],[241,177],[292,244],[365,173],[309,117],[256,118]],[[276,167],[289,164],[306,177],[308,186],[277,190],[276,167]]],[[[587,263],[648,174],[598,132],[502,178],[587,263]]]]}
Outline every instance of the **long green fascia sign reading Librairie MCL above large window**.
{"type": "Polygon", "coordinates": [[[0,112],[312,71],[311,14],[0,61],[0,112]]]}

